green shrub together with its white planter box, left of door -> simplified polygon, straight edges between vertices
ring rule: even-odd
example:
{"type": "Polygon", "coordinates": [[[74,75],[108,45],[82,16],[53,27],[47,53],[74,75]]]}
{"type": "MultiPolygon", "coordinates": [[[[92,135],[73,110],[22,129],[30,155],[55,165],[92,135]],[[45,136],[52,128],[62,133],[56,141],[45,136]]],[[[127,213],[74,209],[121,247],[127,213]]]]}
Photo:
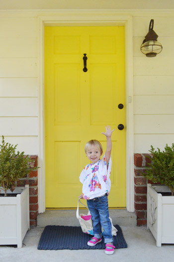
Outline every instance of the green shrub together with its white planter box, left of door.
{"type": "Polygon", "coordinates": [[[22,247],[29,229],[29,186],[17,187],[17,180],[34,171],[34,159],[17,151],[16,145],[0,144],[0,245],[22,247]]]}

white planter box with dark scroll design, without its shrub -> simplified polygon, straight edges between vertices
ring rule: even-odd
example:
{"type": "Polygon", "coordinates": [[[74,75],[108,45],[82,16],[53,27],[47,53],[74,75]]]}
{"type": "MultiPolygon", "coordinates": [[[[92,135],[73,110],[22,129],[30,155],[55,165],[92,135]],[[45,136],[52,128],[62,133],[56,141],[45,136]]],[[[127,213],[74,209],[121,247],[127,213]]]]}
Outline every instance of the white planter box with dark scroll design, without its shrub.
{"type": "Polygon", "coordinates": [[[163,185],[148,184],[147,191],[147,227],[157,241],[162,244],[174,244],[174,196],[162,196],[158,192],[171,192],[163,185]]]}

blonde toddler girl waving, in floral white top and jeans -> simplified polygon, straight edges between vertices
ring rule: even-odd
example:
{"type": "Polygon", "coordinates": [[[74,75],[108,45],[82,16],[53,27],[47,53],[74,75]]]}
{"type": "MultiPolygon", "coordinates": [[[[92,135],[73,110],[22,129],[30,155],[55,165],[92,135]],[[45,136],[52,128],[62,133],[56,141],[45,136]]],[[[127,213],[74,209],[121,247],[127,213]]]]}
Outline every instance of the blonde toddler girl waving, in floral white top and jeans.
{"type": "Polygon", "coordinates": [[[114,253],[114,246],[112,244],[112,229],[109,220],[108,200],[111,182],[111,149],[112,132],[110,127],[106,127],[106,132],[102,132],[106,136],[107,146],[106,152],[102,159],[100,156],[103,153],[102,145],[97,140],[90,140],[85,146],[85,152],[91,164],[83,169],[80,175],[80,181],[83,184],[82,197],[87,199],[87,207],[91,214],[94,237],[87,242],[88,246],[95,246],[101,242],[101,226],[104,229],[103,237],[106,244],[105,254],[112,255],[114,253]]]}

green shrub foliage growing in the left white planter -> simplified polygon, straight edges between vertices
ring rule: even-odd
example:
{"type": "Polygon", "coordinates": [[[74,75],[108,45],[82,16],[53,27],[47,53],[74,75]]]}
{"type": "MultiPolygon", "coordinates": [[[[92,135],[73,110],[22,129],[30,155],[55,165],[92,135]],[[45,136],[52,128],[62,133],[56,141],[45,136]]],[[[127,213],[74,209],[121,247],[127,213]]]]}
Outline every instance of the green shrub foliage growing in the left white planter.
{"type": "Polygon", "coordinates": [[[6,190],[14,190],[16,182],[19,178],[25,177],[31,171],[38,167],[31,167],[34,159],[30,159],[24,152],[15,153],[16,145],[5,143],[2,135],[2,143],[0,144],[0,187],[3,188],[5,196],[6,190]]]}

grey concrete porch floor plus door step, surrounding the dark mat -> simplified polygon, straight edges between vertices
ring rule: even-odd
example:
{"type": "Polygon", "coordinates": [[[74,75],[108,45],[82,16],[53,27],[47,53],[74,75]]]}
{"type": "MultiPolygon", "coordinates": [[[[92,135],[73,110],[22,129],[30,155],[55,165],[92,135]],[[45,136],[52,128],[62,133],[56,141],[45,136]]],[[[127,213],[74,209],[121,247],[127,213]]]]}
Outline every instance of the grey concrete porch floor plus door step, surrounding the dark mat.
{"type": "MultiPolygon", "coordinates": [[[[87,213],[87,210],[80,210],[87,213]]],[[[113,224],[118,224],[127,242],[127,249],[116,249],[112,256],[104,250],[37,250],[41,234],[47,225],[79,226],[76,210],[46,210],[38,215],[38,226],[27,232],[21,249],[0,246],[0,261],[4,262],[164,262],[173,261],[174,245],[156,247],[156,241],[145,226],[136,226],[136,215],[127,210],[109,210],[113,224]]]]}

